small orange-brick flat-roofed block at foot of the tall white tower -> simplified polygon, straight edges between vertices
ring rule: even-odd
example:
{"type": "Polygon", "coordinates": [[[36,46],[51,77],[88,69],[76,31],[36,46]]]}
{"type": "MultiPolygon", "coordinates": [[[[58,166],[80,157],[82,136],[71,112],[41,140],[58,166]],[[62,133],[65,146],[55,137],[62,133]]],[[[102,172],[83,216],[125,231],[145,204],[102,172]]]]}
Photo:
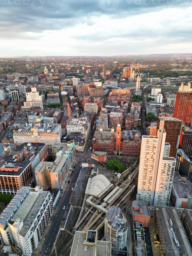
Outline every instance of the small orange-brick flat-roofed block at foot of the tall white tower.
{"type": "Polygon", "coordinates": [[[147,203],[142,203],[140,201],[134,200],[132,202],[132,222],[139,221],[143,224],[145,228],[149,227],[150,222],[150,212],[147,203]]]}

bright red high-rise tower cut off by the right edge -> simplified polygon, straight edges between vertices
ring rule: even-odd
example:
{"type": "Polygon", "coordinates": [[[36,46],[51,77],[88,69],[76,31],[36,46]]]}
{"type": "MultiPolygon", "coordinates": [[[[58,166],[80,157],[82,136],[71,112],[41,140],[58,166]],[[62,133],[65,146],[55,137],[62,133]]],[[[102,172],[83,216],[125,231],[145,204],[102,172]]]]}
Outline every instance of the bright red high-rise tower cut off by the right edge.
{"type": "Polygon", "coordinates": [[[180,119],[190,128],[192,126],[192,91],[177,92],[173,117],[180,119]]]}

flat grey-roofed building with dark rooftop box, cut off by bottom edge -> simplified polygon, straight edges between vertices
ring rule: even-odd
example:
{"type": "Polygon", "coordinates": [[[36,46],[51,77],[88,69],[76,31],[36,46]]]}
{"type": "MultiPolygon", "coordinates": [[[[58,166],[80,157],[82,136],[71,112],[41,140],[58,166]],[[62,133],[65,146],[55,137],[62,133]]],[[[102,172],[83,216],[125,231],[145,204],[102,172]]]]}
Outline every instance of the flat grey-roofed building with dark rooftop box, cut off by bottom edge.
{"type": "Polygon", "coordinates": [[[111,242],[99,241],[97,230],[75,231],[69,256],[111,256],[111,242]]]}

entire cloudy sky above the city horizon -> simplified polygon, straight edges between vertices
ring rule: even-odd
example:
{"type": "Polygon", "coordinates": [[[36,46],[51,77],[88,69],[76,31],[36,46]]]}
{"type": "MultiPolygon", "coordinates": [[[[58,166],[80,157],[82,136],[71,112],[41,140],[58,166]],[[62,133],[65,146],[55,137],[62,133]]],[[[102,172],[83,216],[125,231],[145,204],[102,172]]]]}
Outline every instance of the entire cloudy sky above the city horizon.
{"type": "Polygon", "coordinates": [[[0,56],[192,53],[192,0],[0,0],[0,56]]]}

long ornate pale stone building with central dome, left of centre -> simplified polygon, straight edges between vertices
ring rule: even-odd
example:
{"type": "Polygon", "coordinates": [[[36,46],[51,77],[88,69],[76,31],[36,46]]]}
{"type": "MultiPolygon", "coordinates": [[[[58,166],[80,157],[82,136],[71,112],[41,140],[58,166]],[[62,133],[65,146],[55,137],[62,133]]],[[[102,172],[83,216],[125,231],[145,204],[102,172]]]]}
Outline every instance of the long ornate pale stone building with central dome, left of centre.
{"type": "Polygon", "coordinates": [[[17,145],[21,145],[25,142],[38,142],[46,143],[49,149],[55,142],[61,142],[61,138],[61,124],[27,125],[23,129],[14,130],[13,133],[14,143],[17,145]]]}

